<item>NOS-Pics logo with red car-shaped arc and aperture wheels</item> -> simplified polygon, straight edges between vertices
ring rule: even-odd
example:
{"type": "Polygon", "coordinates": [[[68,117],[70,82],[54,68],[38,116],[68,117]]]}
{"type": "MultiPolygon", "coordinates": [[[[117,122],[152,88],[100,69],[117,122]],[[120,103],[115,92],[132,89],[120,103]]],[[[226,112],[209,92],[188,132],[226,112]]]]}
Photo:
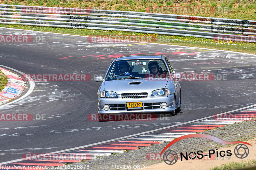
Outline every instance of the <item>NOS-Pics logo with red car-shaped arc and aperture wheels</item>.
{"type": "MultiPolygon", "coordinates": [[[[219,143],[225,144],[225,145],[240,143],[239,145],[236,145],[236,147],[234,149],[234,154],[236,155],[237,158],[240,158],[240,159],[246,158],[249,154],[249,148],[244,144],[251,145],[247,142],[242,142],[242,141],[227,142],[227,141],[221,140],[219,138],[216,138],[214,136],[206,135],[206,134],[191,134],[191,135],[184,135],[184,136],[181,136],[180,138],[174,139],[163,149],[161,154],[172,144],[178,142],[181,139],[185,139],[185,138],[206,138],[206,139],[210,139],[210,140],[213,140],[215,142],[219,142],[219,143]]],[[[219,157],[224,157],[224,156],[231,156],[232,151],[231,150],[218,151],[218,149],[216,149],[216,151],[215,151],[213,149],[210,149],[210,150],[208,150],[208,152],[205,152],[205,153],[203,153],[203,151],[199,150],[197,152],[185,152],[185,153],[180,152],[179,154],[177,154],[177,152],[175,152],[173,150],[168,150],[168,151],[164,152],[163,159],[166,164],[173,165],[178,161],[178,159],[180,159],[181,161],[189,160],[189,159],[190,160],[204,159],[204,157],[207,157],[207,156],[209,158],[211,158],[211,156],[214,154],[216,154],[216,157],[219,158],[219,157]]]]}

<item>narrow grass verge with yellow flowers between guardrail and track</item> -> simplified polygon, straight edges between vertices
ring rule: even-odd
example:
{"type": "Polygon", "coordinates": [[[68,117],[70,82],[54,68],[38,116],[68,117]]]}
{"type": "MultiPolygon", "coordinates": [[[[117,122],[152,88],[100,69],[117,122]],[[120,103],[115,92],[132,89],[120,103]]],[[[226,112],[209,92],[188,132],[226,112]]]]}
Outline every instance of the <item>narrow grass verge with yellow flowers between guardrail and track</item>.
{"type": "Polygon", "coordinates": [[[94,35],[151,36],[152,39],[156,39],[156,43],[172,44],[172,45],[179,45],[179,46],[193,46],[193,47],[211,48],[211,49],[218,49],[218,50],[227,50],[227,51],[256,54],[256,43],[222,41],[222,40],[196,38],[196,37],[146,34],[146,33],[138,33],[138,32],[68,29],[68,28],[60,28],[60,27],[31,26],[31,25],[0,24],[0,27],[44,31],[44,32],[56,32],[56,33],[83,35],[83,36],[94,36],[94,35]]]}

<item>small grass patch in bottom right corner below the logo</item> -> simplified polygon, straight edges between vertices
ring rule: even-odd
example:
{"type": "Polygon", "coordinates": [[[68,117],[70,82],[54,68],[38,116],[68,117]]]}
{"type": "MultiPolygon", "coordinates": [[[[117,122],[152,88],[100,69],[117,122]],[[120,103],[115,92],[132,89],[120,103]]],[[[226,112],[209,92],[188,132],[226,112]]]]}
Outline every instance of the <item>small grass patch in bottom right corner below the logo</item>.
{"type": "MultiPolygon", "coordinates": [[[[242,162],[230,162],[227,164],[221,164],[221,166],[214,167],[209,170],[235,170],[245,167],[256,166],[256,160],[242,161],[242,162]]],[[[256,168],[256,167],[254,167],[256,168]]]]}

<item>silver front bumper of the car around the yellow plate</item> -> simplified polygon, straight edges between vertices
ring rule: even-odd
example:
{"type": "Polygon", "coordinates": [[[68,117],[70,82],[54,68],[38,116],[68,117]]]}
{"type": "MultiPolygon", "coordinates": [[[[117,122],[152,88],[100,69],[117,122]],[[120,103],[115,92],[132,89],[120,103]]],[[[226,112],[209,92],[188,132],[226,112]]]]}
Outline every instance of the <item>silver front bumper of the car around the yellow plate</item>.
{"type": "Polygon", "coordinates": [[[174,94],[167,96],[151,96],[148,94],[146,98],[128,98],[123,99],[121,95],[117,98],[101,98],[98,97],[98,113],[100,114],[119,114],[119,113],[157,113],[174,111],[174,94]],[[141,108],[128,108],[127,102],[142,102],[141,108]],[[167,103],[167,107],[162,109],[160,104],[167,103]],[[103,109],[103,106],[108,104],[108,111],[103,109]]]}

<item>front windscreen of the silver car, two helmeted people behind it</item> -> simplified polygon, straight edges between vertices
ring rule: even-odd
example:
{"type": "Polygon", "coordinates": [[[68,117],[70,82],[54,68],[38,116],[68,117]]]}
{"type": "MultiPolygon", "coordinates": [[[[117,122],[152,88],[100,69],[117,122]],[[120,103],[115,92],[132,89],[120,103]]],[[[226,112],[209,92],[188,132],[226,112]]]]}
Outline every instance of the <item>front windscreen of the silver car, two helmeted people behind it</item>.
{"type": "MultiPolygon", "coordinates": [[[[115,61],[108,70],[106,81],[128,78],[145,78],[148,74],[168,74],[162,59],[115,61]]],[[[151,76],[152,77],[152,76],[151,76]]]]}

